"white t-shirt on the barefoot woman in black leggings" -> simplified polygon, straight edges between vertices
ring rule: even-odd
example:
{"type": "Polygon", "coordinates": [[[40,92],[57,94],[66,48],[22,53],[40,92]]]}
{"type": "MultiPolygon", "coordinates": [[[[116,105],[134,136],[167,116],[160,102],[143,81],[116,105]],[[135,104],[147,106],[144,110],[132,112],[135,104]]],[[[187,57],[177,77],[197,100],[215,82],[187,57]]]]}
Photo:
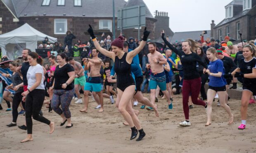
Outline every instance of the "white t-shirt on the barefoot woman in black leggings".
{"type": "Polygon", "coordinates": [[[36,73],[42,74],[41,83],[36,89],[45,89],[43,85],[43,67],[40,64],[37,64],[36,66],[30,66],[28,68],[27,72],[27,80],[28,80],[28,89],[31,88],[36,83],[36,73]]]}

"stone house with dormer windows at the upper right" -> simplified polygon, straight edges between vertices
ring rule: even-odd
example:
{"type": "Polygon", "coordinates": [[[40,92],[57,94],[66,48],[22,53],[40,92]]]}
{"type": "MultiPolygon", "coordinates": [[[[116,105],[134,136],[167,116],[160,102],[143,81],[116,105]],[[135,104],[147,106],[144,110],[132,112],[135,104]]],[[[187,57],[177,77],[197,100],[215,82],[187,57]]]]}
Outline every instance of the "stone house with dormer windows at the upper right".
{"type": "Polygon", "coordinates": [[[211,23],[212,34],[215,39],[223,40],[229,36],[240,42],[256,38],[256,0],[232,0],[225,6],[225,19],[216,26],[211,23]]]}

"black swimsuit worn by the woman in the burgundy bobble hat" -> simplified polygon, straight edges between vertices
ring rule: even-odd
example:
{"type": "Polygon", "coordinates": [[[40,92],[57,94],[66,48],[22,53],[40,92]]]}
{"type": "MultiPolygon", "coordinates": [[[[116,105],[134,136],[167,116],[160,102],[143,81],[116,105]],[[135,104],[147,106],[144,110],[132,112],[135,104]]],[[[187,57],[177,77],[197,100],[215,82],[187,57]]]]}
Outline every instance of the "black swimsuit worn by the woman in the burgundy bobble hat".
{"type": "Polygon", "coordinates": [[[131,64],[126,62],[127,53],[124,53],[121,59],[116,56],[114,70],[116,72],[117,88],[124,91],[128,86],[135,85],[133,76],[132,76],[132,67],[131,64]]]}

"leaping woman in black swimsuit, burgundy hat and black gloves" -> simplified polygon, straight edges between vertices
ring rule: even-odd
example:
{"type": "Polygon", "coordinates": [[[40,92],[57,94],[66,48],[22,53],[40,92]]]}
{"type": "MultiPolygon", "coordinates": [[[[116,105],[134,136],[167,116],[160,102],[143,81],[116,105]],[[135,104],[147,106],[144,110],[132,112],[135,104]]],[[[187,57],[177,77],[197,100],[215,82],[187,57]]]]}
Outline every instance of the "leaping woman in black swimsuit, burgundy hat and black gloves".
{"type": "MultiPolygon", "coordinates": [[[[90,26],[90,25],[89,25],[90,26]]],[[[118,95],[116,98],[116,103],[119,104],[118,109],[124,119],[128,122],[131,127],[132,134],[130,140],[135,139],[137,137],[138,130],[140,132],[140,136],[136,141],[142,140],[145,137],[145,132],[143,131],[140,121],[138,117],[135,115],[130,100],[133,98],[135,92],[135,81],[133,80],[131,74],[131,63],[133,57],[136,56],[145,46],[147,37],[149,36],[149,31],[144,30],[144,37],[140,45],[129,53],[123,52],[123,37],[119,36],[111,43],[112,51],[107,51],[103,49],[100,44],[97,42],[95,35],[93,34],[92,27],[88,29],[90,36],[92,37],[92,41],[95,47],[105,56],[114,60],[114,69],[117,75],[117,91],[118,95]],[[136,126],[136,127],[135,127],[136,126]],[[138,130],[137,130],[137,129],[138,130]]]]}

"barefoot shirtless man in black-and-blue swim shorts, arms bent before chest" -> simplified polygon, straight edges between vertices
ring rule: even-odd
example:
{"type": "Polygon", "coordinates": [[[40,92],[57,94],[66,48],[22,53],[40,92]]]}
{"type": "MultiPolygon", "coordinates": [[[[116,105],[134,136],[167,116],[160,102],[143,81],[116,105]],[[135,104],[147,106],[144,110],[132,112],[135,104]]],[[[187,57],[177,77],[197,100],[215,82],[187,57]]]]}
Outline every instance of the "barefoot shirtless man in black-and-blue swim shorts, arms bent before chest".
{"type": "Polygon", "coordinates": [[[91,91],[96,92],[96,94],[100,98],[100,110],[98,112],[103,112],[103,95],[101,90],[101,74],[100,69],[102,67],[101,63],[102,60],[98,57],[99,51],[96,48],[92,49],[92,56],[93,59],[90,58],[83,58],[83,61],[85,61],[85,70],[90,69],[88,80],[85,83],[84,88],[84,109],[80,110],[81,112],[87,113],[88,109],[88,94],[91,91]]]}

